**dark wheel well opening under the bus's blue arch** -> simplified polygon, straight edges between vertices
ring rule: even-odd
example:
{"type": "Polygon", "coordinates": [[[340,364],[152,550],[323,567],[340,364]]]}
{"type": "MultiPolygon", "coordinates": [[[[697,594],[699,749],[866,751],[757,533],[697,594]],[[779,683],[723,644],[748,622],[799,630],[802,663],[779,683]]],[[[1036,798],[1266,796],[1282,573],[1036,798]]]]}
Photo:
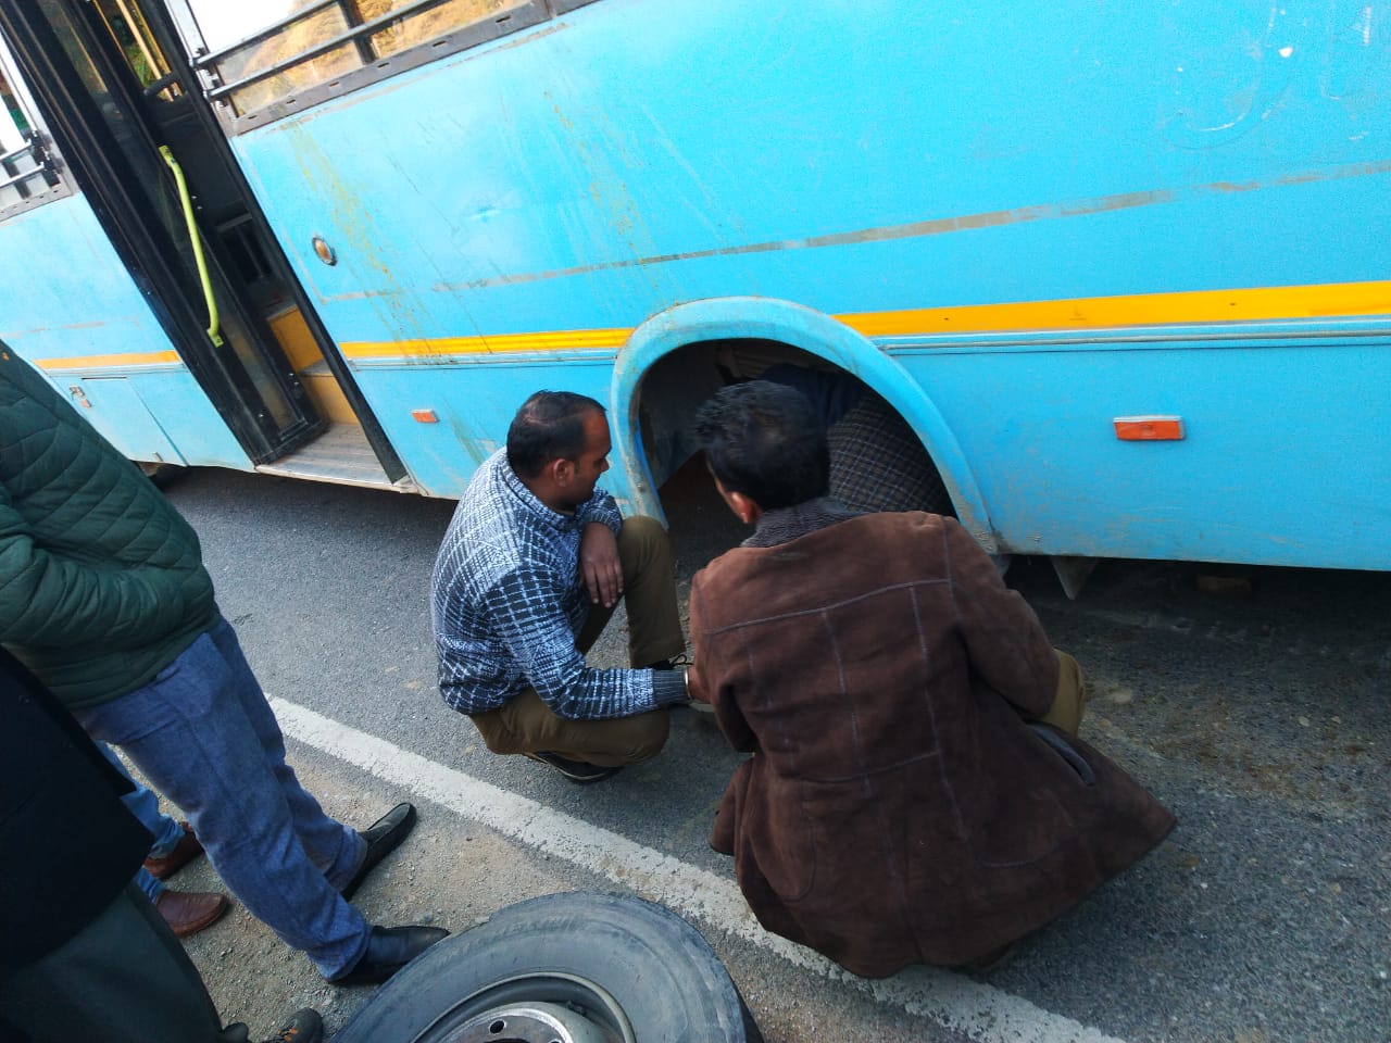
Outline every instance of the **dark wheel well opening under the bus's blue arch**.
{"type": "Polygon", "coordinates": [[[657,488],[698,452],[700,405],[747,380],[789,384],[811,399],[830,444],[830,495],[846,506],[956,517],[942,474],[899,412],[858,377],[780,341],[696,341],[643,375],[637,420],[657,488]]]}

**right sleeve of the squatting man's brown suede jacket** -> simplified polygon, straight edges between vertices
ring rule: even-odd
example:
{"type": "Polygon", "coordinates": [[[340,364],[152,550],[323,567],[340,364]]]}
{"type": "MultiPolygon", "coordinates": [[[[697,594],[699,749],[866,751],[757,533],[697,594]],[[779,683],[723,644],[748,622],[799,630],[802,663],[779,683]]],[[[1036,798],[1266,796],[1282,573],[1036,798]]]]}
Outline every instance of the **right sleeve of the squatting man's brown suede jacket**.
{"type": "Polygon", "coordinates": [[[1057,695],[1057,655],[1043,624],[971,534],[954,519],[944,523],[951,597],[971,669],[1024,716],[1043,716],[1057,695]]]}

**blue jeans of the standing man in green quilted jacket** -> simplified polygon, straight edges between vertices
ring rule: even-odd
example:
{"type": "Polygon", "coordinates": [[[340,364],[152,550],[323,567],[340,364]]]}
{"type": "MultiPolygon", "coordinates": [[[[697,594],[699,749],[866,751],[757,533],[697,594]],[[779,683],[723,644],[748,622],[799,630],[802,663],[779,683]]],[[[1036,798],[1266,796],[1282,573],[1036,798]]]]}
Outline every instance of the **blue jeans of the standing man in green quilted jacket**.
{"type": "Polygon", "coordinates": [[[367,951],[370,925],[338,889],[366,841],[328,818],[285,763],[285,738],[225,620],[143,688],[75,711],[188,814],[227,887],[324,978],[367,951]]]}

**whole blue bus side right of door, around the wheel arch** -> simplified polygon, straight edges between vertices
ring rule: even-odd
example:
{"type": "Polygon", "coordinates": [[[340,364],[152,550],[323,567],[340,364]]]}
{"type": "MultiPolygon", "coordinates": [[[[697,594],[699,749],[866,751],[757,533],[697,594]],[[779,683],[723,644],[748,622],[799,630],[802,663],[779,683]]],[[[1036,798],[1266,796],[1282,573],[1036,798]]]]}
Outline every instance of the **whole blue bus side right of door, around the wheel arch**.
{"type": "MultiPolygon", "coordinates": [[[[606,0],[234,147],[433,492],[458,495],[530,391],[602,399],[641,323],[747,293],[890,328],[861,350],[893,353],[940,410],[950,431],[917,428],[960,442],[938,464],[983,542],[1388,567],[1391,477],[1348,460],[1385,406],[1346,374],[1378,387],[1362,381],[1391,349],[1326,345],[1321,305],[1242,296],[1388,274],[1391,46],[1373,17],[606,0]],[[1230,312],[1184,296],[1227,289],[1230,312]],[[953,334],[951,309],[1114,298],[1124,314],[1155,295],[1230,342],[1132,345],[1079,314],[1095,328],[1047,352],[914,346],[953,334]],[[1303,343],[1227,325],[1285,318],[1308,320],[1303,343]],[[441,423],[410,421],[420,407],[441,423]],[[1116,441],[1114,417],[1166,412],[1188,438],[1116,441]]],[[[1391,313],[1385,284],[1356,307],[1330,293],[1330,316],[1391,313]]],[[[619,452],[640,455],[627,428],[619,452]]],[[[615,492],[652,506],[623,463],[615,492]]]]}

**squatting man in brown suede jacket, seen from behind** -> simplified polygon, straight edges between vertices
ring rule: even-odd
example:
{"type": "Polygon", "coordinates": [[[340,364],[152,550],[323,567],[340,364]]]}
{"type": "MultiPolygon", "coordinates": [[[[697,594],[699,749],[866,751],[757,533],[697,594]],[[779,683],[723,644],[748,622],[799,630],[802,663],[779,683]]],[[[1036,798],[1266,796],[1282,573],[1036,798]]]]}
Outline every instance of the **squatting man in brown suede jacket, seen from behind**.
{"type": "Polygon", "coordinates": [[[828,499],[793,388],[725,388],[697,435],[755,526],[691,584],[690,683],[753,752],[711,844],[765,928],[867,978],[981,968],[1168,833],[1075,737],[1077,662],[956,520],[828,499]]]}

